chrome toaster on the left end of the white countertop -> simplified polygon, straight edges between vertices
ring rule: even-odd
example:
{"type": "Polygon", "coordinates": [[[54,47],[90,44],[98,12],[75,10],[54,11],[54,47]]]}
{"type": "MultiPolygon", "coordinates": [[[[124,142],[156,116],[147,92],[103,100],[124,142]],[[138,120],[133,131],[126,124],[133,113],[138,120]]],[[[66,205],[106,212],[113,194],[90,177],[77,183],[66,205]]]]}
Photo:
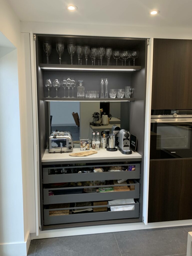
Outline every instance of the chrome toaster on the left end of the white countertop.
{"type": "Polygon", "coordinates": [[[51,132],[49,136],[49,153],[73,151],[73,138],[70,132],[51,132]]]}

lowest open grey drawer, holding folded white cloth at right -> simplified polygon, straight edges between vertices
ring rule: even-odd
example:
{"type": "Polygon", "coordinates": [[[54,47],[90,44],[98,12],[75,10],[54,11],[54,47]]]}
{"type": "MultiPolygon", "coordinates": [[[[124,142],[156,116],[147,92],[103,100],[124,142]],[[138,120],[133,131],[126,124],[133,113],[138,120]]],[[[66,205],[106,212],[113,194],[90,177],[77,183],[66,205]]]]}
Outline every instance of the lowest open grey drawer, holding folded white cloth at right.
{"type": "MultiPolygon", "coordinates": [[[[86,212],[59,215],[63,209],[69,208],[57,208],[57,209],[44,209],[44,225],[62,224],[62,223],[75,223],[75,222],[87,222],[87,221],[99,221],[99,220],[113,220],[113,219],[127,219],[127,218],[139,218],[139,203],[135,200],[133,210],[127,211],[105,211],[105,212],[86,212]],[[55,212],[55,215],[52,214],[55,212]]],[[[98,207],[98,206],[97,206],[98,207]]],[[[106,207],[106,206],[100,206],[106,207]]],[[[70,208],[71,209],[71,208],[70,208]]]]}

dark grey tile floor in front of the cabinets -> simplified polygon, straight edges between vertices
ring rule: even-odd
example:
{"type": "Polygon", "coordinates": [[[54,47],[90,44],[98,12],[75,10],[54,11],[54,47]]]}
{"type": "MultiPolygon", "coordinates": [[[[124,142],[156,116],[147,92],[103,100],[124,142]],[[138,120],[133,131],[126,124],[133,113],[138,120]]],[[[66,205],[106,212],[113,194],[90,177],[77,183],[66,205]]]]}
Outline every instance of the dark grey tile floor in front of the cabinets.
{"type": "Polygon", "coordinates": [[[32,240],[28,256],[186,256],[192,226],[32,240]]]}

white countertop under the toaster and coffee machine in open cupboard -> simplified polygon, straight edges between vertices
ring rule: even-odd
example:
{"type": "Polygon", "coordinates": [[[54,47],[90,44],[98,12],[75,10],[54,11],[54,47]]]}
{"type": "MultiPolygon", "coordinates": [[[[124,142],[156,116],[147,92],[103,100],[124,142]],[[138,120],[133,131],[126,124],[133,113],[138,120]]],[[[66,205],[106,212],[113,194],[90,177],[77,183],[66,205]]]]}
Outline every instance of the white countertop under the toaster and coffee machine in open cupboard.
{"type": "MultiPolygon", "coordinates": [[[[92,150],[92,149],[90,149],[92,150]]],[[[80,148],[74,148],[73,152],[70,153],[77,153],[77,152],[82,152],[80,151],[80,148]]],[[[137,152],[132,152],[131,155],[124,155],[122,154],[119,150],[115,152],[110,152],[107,151],[106,149],[100,149],[97,154],[93,154],[90,156],[69,156],[68,152],[65,153],[49,153],[48,149],[46,149],[43,157],[42,157],[42,162],[59,162],[59,161],[79,161],[79,160],[100,160],[100,159],[137,159],[141,158],[142,156],[137,153],[137,152]]]]}

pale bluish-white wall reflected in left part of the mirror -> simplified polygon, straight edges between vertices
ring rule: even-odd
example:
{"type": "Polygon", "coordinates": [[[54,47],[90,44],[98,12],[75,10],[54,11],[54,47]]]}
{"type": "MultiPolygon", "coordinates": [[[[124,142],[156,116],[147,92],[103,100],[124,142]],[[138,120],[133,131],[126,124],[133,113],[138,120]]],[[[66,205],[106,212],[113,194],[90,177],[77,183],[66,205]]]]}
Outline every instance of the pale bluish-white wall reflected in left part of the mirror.
{"type": "Polygon", "coordinates": [[[80,118],[79,102],[54,102],[50,101],[50,114],[52,117],[52,126],[76,125],[72,112],[77,112],[80,118]]]}

